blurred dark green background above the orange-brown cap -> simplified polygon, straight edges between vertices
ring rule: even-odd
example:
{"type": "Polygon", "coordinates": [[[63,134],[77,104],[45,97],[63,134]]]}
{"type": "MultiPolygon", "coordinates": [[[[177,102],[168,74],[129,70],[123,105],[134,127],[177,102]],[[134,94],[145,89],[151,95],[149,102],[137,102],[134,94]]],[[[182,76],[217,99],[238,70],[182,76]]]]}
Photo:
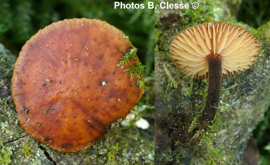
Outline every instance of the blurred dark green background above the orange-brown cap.
{"type": "Polygon", "coordinates": [[[26,41],[52,22],[83,17],[100,19],[129,36],[138,48],[140,61],[146,65],[147,76],[154,69],[154,10],[147,8],[148,0],[134,3],[143,3],[145,8],[114,9],[111,0],[0,0],[0,42],[18,56],[26,41]]]}

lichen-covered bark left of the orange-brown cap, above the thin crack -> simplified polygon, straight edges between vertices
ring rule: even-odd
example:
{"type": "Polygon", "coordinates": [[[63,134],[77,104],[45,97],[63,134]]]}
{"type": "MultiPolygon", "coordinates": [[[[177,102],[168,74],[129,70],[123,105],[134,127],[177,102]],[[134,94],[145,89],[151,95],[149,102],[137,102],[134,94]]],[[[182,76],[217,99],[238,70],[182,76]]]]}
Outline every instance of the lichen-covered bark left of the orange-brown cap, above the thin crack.
{"type": "Polygon", "coordinates": [[[7,142],[25,136],[19,125],[15,106],[11,98],[11,77],[15,57],[0,44],[0,141],[7,142]]]}

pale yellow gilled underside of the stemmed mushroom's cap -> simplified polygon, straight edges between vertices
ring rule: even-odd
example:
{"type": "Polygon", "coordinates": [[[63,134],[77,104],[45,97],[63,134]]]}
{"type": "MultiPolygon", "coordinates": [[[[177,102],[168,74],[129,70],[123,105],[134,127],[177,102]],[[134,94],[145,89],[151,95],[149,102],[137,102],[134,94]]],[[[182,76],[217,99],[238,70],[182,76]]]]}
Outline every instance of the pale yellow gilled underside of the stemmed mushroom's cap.
{"type": "Polygon", "coordinates": [[[187,28],[170,44],[170,56],[187,76],[208,77],[209,54],[222,57],[223,77],[232,76],[253,65],[260,45],[247,30],[223,22],[208,22],[187,28]]]}

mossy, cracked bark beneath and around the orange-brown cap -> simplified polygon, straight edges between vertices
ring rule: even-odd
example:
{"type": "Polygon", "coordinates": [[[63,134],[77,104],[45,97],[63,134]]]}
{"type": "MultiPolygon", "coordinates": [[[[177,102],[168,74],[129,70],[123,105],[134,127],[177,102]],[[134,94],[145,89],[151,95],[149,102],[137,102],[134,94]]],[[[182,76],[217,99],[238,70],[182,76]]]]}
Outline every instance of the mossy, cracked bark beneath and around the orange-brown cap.
{"type": "MultiPolygon", "coordinates": [[[[13,54],[0,44],[0,164],[154,164],[154,119],[151,110],[143,113],[150,123],[149,129],[115,126],[101,140],[79,152],[57,152],[30,137],[19,125],[11,97],[15,61],[13,54]]],[[[145,106],[144,103],[153,104],[153,78],[146,77],[146,80],[146,92],[139,109],[145,106]]]]}

